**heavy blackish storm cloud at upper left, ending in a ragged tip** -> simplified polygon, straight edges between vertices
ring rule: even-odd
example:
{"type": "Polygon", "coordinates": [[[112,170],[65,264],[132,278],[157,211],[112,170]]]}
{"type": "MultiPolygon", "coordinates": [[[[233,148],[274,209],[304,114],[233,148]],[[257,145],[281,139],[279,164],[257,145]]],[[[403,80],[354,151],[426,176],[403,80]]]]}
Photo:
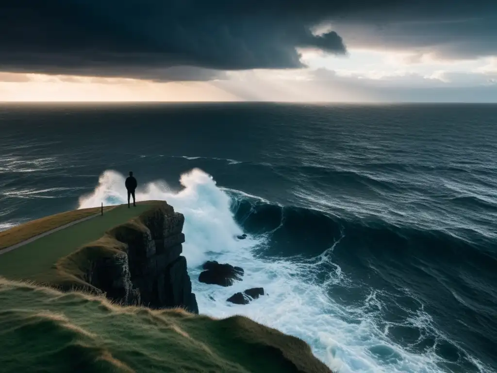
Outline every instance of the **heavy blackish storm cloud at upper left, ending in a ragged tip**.
{"type": "MultiPolygon", "coordinates": [[[[259,3],[262,8],[226,0],[3,1],[0,70],[163,80],[171,66],[290,68],[301,66],[296,47],[345,52],[336,33],[310,32],[319,7],[300,16],[286,6],[279,11],[278,1],[265,9],[259,3]]],[[[205,73],[192,79],[215,75],[205,73]]]]}

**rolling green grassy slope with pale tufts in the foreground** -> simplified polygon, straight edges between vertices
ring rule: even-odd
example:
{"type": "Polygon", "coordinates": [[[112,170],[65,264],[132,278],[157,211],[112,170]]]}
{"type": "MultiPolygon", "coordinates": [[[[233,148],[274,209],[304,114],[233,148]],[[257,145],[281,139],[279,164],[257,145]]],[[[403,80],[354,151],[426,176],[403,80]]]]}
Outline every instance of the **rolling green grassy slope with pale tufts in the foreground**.
{"type": "Polygon", "coordinates": [[[120,307],[1,278],[0,304],[4,373],[330,373],[300,339],[241,316],[120,307]]]}

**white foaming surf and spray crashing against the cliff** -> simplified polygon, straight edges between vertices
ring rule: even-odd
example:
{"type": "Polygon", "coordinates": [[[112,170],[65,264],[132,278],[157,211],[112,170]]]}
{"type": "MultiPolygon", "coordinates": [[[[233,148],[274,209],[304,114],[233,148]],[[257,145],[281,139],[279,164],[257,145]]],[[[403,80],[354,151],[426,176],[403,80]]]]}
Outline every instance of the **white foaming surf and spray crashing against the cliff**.
{"type": "MultiPolygon", "coordinates": [[[[127,202],[124,179],[118,172],[105,171],[94,191],[80,198],[79,208],[100,206],[102,202],[104,205],[127,202]]],[[[378,325],[371,313],[364,311],[371,306],[381,309],[376,291],[371,291],[361,307],[346,307],[333,301],[327,291],[328,284],[353,285],[332,262],[333,248],[341,238],[315,258],[272,256],[268,259],[260,253],[278,228],[264,234],[249,234],[245,240],[236,239],[243,233],[243,226],[235,219],[239,202],[262,201],[261,198],[218,187],[213,177],[200,169],[181,175],[180,184],[182,189],[173,190],[164,181],[149,183],[137,189],[136,197],[138,201],[166,200],[184,214],[183,255],[200,313],[218,318],[242,314],[302,338],[319,359],[339,373],[443,372],[436,364],[440,358],[435,351],[423,354],[406,351],[386,337],[388,325],[378,325]],[[230,287],[198,282],[201,265],[207,260],[244,268],[244,280],[230,287]],[[325,278],[319,275],[323,268],[328,274],[325,278]],[[226,302],[238,291],[259,286],[267,295],[248,305],[226,302]]],[[[430,324],[430,316],[417,312],[408,323],[425,327],[430,324]]],[[[482,367],[482,372],[485,371],[482,367]]]]}

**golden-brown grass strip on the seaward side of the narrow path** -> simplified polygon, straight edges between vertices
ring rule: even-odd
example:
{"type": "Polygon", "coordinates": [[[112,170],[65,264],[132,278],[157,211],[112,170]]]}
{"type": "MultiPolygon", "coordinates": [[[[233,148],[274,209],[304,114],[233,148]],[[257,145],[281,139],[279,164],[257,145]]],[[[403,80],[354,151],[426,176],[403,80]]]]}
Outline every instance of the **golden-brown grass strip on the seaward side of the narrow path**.
{"type": "MultiPolygon", "coordinates": [[[[114,206],[104,207],[104,211],[114,206]]],[[[26,241],[34,236],[48,232],[62,225],[75,220],[95,215],[100,212],[100,207],[83,208],[81,210],[66,211],[60,214],[50,215],[41,219],[29,221],[27,223],[0,232],[0,250],[26,241]]]]}

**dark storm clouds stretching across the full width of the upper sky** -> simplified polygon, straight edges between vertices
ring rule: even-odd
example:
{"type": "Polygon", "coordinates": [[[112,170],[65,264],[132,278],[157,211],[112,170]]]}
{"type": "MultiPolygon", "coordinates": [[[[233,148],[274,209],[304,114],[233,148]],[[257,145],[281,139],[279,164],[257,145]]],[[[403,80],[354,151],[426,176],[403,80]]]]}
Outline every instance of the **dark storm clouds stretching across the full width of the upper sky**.
{"type": "Polygon", "coordinates": [[[496,1],[4,0],[0,71],[212,80],[345,44],[496,53],[496,1]],[[333,31],[310,29],[331,21],[333,31]],[[178,68],[178,66],[183,66],[178,68]],[[188,68],[184,66],[189,66],[188,68]]]}

